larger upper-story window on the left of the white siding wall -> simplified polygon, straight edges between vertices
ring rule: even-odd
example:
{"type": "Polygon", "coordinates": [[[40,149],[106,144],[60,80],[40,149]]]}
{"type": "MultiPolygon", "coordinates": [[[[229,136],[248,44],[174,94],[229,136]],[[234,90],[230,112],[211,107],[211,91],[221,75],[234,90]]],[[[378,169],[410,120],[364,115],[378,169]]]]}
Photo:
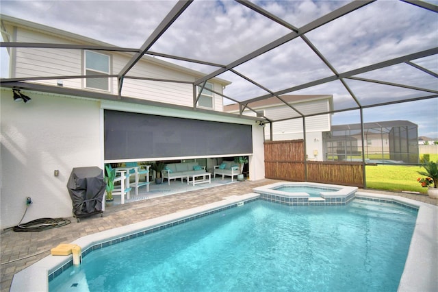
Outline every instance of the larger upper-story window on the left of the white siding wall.
{"type": "MultiPolygon", "coordinates": [[[[94,51],[85,51],[85,75],[108,75],[110,74],[110,56],[94,51]]],[[[87,78],[86,88],[110,90],[110,79],[87,78]]]]}

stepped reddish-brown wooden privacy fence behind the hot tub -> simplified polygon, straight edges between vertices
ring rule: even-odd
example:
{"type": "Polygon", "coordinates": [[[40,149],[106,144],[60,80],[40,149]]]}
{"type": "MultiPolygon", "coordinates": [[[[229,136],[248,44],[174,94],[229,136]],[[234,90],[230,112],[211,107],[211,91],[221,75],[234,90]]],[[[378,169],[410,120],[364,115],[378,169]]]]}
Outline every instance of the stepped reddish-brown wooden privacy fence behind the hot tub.
{"type": "Polygon", "coordinates": [[[266,141],[265,177],[272,180],[321,182],[363,188],[361,162],[305,161],[304,157],[303,140],[266,141]]]}

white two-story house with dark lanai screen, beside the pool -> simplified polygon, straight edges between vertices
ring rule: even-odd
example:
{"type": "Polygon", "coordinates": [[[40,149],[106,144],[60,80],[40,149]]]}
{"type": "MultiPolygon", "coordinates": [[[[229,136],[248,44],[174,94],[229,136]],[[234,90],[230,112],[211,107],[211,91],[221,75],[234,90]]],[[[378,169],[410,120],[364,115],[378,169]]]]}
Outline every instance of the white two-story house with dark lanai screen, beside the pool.
{"type": "MultiPolygon", "coordinates": [[[[1,33],[5,42],[108,46],[10,16],[1,16],[1,33]]],[[[263,129],[253,117],[222,111],[216,93],[229,85],[225,80],[207,83],[195,108],[190,82],[203,74],[157,58],[136,63],[129,75],[142,78],[126,77],[118,95],[117,77],[107,75],[122,71],[132,53],[20,47],[8,53],[10,79],[0,88],[1,228],[19,223],[27,197],[33,204],[24,222],[73,215],[66,184],[74,167],[203,159],[208,168],[245,155],[251,180],[264,178],[263,129]],[[29,76],[34,80],[13,79],[29,76]],[[14,102],[13,89],[31,101],[14,102]]]]}

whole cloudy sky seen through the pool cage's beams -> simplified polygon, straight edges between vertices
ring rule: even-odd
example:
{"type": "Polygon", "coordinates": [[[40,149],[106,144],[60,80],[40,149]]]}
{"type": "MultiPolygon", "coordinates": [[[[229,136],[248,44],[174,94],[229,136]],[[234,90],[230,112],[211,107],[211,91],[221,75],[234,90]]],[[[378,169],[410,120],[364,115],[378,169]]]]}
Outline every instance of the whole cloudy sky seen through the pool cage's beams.
{"type": "MultiPolygon", "coordinates": [[[[254,1],[264,10],[300,28],[349,1],[254,1]]],[[[120,47],[139,48],[176,1],[0,1],[0,12],[56,27],[120,47]]],[[[438,1],[429,1],[438,5],[438,1]]],[[[151,51],[229,64],[291,31],[235,1],[196,0],[163,34],[151,51]]],[[[307,40],[337,73],[438,47],[438,14],[415,5],[380,0],[306,34],[307,40]]],[[[168,60],[169,61],[169,60],[168,60]]],[[[172,61],[175,62],[175,61],[172,61]]],[[[177,62],[203,73],[214,66],[177,62]]],[[[438,73],[438,57],[415,60],[438,73]]],[[[234,68],[271,91],[292,88],[333,75],[302,38],[281,45],[234,68]]],[[[8,56],[1,48],[1,77],[8,77],[8,56]]],[[[224,94],[242,101],[266,95],[234,73],[219,75],[232,82],[224,94]]],[[[409,64],[363,73],[357,77],[438,90],[437,78],[409,64]]],[[[432,95],[428,92],[346,80],[363,105],[432,95]]],[[[336,110],[355,106],[344,84],[329,82],[291,94],[333,95],[336,110]]],[[[438,99],[364,110],[364,121],[409,120],[419,135],[438,138],[438,99]]],[[[359,123],[358,111],[333,115],[333,124],[359,123]]]]}

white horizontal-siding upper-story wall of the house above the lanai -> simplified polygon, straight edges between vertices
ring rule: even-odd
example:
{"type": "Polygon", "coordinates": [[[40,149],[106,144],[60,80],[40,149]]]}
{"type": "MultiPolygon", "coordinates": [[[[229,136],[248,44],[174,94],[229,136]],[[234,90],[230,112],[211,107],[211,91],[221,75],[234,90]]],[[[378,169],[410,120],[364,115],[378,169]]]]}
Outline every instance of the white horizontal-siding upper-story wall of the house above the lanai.
{"type": "MultiPolygon", "coordinates": [[[[55,36],[44,32],[29,29],[27,27],[12,27],[6,25],[8,32],[12,32],[17,42],[48,42],[68,45],[81,45],[73,38],[66,39],[62,36],[55,36]]],[[[93,44],[94,45],[94,44],[93,44]]],[[[118,53],[110,51],[99,51],[110,56],[110,74],[118,74],[131,59],[132,54],[118,53]]],[[[11,77],[42,77],[57,75],[84,75],[83,57],[84,51],[81,49],[40,49],[40,48],[13,48],[11,53],[12,66],[10,68],[11,77]]],[[[174,66],[155,58],[144,57],[138,62],[129,74],[131,76],[141,76],[146,78],[181,80],[193,82],[201,75],[190,70],[183,70],[179,66],[174,66]],[[180,69],[179,69],[180,68],[180,69]]],[[[38,84],[57,86],[57,80],[38,80],[33,81],[38,84]]],[[[62,80],[63,86],[83,90],[92,90],[116,95],[118,93],[118,81],[115,77],[110,78],[110,90],[94,90],[85,87],[85,80],[65,79],[62,80]]],[[[222,84],[217,80],[213,82],[214,90],[222,93],[222,84]]],[[[122,95],[138,99],[165,102],[179,106],[193,106],[193,86],[192,84],[177,82],[156,82],[147,80],[135,80],[125,78],[123,80],[122,95]],[[188,98],[191,97],[191,98],[188,98]]],[[[223,111],[222,97],[214,95],[212,110],[223,111]]]]}

